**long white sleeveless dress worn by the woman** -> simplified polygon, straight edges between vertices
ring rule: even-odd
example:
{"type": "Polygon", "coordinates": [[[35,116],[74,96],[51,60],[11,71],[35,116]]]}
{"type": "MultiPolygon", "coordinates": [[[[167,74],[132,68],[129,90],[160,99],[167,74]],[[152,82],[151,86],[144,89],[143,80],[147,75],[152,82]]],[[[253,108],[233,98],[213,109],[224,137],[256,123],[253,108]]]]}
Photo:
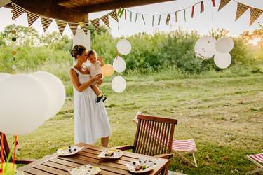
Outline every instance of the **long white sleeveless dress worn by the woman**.
{"type": "MultiPolygon", "coordinates": [[[[73,68],[79,74],[79,83],[90,80],[90,74],[83,74],[73,68]]],[[[109,126],[109,118],[102,101],[96,102],[96,94],[88,87],[83,92],[74,90],[74,142],[95,144],[101,137],[112,135],[109,126]]]]}

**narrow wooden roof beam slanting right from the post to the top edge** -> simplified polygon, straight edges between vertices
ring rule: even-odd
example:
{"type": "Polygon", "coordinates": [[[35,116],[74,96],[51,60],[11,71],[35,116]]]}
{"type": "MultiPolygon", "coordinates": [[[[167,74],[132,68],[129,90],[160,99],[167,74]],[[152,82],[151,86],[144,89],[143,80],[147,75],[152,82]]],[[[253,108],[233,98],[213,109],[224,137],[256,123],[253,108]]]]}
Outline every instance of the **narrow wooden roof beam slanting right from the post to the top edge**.
{"type": "Polygon", "coordinates": [[[120,7],[127,8],[127,7],[135,7],[135,6],[144,6],[144,5],[149,5],[153,3],[161,3],[161,2],[167,2],[167,1],[173,1],[173,0],[119,0],[119,1],[112,1],[109,3],[100,3],[96,5],[81,6],[81,7],[77,7],[76,9],[79,9],[86,13],[94,13],[94,12],[100,12],[104,10],[118,9],[120,7]]]}

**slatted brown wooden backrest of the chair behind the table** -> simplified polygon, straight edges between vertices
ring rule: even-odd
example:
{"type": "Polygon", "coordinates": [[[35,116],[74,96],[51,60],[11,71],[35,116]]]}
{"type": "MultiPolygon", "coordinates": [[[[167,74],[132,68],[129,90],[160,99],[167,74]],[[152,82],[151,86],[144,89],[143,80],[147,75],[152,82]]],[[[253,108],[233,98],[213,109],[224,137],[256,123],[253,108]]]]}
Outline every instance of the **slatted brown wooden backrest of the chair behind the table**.
{"type": "Polygon", "coordinates": [[[134,140],[134,153],[159,155],[170,153],[177,120],[138,115],[134,140]]]}

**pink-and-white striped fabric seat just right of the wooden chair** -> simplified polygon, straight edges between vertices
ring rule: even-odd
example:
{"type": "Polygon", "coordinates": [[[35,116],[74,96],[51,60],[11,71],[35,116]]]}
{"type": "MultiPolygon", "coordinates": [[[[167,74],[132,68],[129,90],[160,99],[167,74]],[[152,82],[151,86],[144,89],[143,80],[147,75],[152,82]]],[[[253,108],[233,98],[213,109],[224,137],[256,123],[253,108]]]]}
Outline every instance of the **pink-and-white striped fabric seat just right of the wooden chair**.
{"type": "Polygon", "coordinates": [[[197,151],[194,139],[175,140],[173,139],[172,149],[174,151],[197,151]]]}

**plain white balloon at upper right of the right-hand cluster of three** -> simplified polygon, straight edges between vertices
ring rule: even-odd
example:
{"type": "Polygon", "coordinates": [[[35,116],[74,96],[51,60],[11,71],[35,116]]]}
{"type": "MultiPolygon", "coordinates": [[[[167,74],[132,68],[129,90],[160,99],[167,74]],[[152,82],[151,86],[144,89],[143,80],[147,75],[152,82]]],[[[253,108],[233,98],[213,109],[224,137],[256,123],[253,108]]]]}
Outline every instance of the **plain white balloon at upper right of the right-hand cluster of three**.
{"type": "Polygon", "coordinates": [[[234,48],[234,41],[228,36],[223,36],[217,39],[215,50],[222,53],[230,52],[234,48]]]}

